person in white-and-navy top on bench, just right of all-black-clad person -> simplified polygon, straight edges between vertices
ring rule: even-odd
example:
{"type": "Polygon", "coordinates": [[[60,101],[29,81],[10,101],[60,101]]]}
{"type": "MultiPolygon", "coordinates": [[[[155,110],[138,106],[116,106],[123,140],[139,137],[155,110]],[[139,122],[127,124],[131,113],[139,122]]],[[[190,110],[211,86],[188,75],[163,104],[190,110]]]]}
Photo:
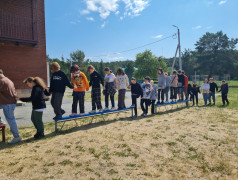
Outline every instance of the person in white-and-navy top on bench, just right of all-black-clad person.
{"type": "Polygon", "coordinates": [[[109,67],[106,67],[104,69],[104,72],[106,73],[104,78],[104,87],[103,87],[103,94],[105,95],[105,109],[103,111],[108,111],[108,98],[110,96],[112,108],[111,111],[115,110],[115,101],[114,101],[114,95],[116,93],[116,87],[117,87],[117,78],[112,73],[112,71],[109,69],[109,67]]]}

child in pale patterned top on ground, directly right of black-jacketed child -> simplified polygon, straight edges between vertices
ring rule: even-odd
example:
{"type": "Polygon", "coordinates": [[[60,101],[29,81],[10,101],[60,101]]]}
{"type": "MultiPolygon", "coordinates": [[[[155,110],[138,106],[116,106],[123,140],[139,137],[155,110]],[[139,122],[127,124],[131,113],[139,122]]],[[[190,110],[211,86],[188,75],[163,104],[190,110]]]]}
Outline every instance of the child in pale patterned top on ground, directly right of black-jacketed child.
{"type": "Polygon", "coordinates": [[[146,76],[145,77],[145,82],[141,85],[141,88],[143,90],[143,97],[141,98],[141,109],[143,111],[141,116],[146,117],[148,114],[148,106],[150,105],[150,97],[151,97],[151,92],[152,92],[152,86],[149,83],[150,77],[146,76]],[[145,107],[144,107],[145,104],[145,107]]]}

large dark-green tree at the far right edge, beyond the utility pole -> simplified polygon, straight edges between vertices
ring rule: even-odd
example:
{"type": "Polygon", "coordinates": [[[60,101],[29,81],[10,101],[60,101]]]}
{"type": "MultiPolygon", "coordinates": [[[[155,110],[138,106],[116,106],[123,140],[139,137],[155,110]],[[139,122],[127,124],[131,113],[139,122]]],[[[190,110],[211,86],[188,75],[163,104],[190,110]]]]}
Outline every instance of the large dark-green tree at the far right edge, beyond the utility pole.
{"type": "Polygon", "coordinates": [[[215,73],[220,75],[229,73],[234,61],[231,53],[234,52],[237,43],[238,39],[229,39],[222,31],[207,32],[195,44],[197,68],[209,76],[215,73]]]}

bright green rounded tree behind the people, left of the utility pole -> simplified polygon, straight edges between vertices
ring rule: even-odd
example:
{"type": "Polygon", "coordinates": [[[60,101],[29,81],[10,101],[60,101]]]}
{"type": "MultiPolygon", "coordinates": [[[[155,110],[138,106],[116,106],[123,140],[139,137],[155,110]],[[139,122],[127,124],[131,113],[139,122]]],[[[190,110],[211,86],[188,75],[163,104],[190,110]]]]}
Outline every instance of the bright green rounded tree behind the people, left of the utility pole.
{"type": "MultiPolygon", "coordinates": [[[[152,54],[151,51],[145,50],[143,53],[139,53],[136,55],[135,66],[138,68],[137,71],[134,72],[134,76],[138,79],[143,79],[146,76],[150,76],[150,78],[157,78],[158,74],[158,58],[152,54]]],[[[161,67],[164,70],[167,70],[167,65],[162,59],[161,67]]]]}

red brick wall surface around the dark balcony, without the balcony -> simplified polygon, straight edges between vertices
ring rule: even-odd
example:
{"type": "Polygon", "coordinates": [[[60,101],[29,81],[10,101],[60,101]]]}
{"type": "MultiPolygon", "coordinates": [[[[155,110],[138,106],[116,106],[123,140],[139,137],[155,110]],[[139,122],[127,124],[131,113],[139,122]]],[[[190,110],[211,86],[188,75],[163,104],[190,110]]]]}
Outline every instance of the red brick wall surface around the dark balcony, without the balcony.
{"type": "Polygon", "coordinates": [[[27,88],[22,81],[29,76],[39,76],[47,82],[44,0],[1,0],[0,8],[22,17],[34,16],[37,20],[36,46],[0,40],[0,68],[5,76],[17,89],[27,88]],[[32,1],[36,3],[35,14],[32,14],[32,1]]]}

